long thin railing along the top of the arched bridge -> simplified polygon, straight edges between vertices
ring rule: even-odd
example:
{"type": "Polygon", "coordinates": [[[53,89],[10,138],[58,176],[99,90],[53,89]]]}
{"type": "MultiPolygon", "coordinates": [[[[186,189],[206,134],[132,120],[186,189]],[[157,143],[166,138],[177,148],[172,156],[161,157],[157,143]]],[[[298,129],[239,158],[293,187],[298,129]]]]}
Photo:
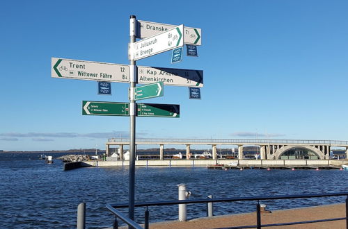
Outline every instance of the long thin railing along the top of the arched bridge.
{"type": "MultiPolygon", "coordinates": [[[[109,142],[129,143],[127,138],[109,138],[109,142]]],[[[159,143],[196,143],[196,144],[319,144],[330,146],[348,146],[348,141],[338,140],[301,140],[301,139],[155,139],[137,138],[136,142],[159,144],[159,143]]]]}

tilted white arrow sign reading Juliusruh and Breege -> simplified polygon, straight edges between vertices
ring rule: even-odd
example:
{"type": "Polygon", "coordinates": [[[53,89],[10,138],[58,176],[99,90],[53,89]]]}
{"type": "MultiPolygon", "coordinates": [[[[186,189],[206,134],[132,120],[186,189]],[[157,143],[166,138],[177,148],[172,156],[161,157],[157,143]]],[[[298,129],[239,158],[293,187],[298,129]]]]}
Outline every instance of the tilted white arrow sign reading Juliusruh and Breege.
{"type": "Polygon", "coordinates": [[[177,26],[163,33],[135,42],[129,54],[134,60],[140,60],[149,56],[162,53],[184,45],[184,26],[177,26]]]}

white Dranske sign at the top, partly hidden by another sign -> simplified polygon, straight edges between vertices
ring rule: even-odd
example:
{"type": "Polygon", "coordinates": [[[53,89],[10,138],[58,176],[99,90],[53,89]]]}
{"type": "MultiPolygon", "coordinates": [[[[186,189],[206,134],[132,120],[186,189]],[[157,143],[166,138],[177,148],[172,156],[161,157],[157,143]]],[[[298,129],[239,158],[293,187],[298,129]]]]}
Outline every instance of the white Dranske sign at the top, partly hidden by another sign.
{"type": "MultiPolygon", "coordinates": [[[[158,33],[174,28],[174,25],[160,24],[156,22],[138,21],[138,38],[148,38],[158,33]]],[[[202,43],[202,32],[200,28],[184,27],[184,43],[200,45],[202,43]]]]}

